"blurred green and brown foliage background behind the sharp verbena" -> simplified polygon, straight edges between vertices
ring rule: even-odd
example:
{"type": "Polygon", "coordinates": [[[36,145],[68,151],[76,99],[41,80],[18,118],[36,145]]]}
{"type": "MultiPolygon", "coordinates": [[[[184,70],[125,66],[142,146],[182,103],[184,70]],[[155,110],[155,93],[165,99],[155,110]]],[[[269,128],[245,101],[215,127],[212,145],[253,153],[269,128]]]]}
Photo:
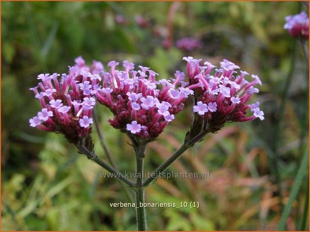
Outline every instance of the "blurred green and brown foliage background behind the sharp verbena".
{"type": "MultiPolygon", "coordinates": [[[[199,202],[199,209],[148,208],[150,230],[275,230],[308,145],[308,67],[298,41],[283,29],[301,2],[2,2],[2,230],[136,230],[122,186],[59,134],[29,126],[41,109],[29,88],[40,73],[66,73],[82,55],[104,65],[128,59],[160,78],[186,71],[183,56],[214,65],[225,58],[263,86],[253,102],[265,120],[229,123],[183,154],[167,172],[210,171],[209,179],[158,179],[147,203],[199,202]],[[184,39],[186,38],[186,39],[184,39]],[[183,40],[182,40],[183,39],[183,40]]],[[[308,44],[306,43],[306,46],[308,44]]],[[[307,48],[306,48],[307,50],[307,48]]],[[[135,170],[129,139],[107,122],[102,132],[117,167],[135,170]]],[[[184,140],[192,106],[149,144],[152,171],[184,140]]],[[[106,159],[96,130],[95,150],[106,159]]],[[[308,173],[286,230],[308,230],[308,173]]]]}

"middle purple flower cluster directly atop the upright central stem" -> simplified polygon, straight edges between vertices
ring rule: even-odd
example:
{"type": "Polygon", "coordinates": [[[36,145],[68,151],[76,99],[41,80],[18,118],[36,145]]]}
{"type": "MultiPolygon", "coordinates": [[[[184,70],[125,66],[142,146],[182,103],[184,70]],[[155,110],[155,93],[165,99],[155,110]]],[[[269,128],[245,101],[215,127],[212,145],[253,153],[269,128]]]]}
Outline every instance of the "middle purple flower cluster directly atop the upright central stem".
{"type": "Polygon", "coordinates": [[[183,109],[193,90],[186,87],[185,74],[180,71],[176,71],[175,79],[156,81],[158,73],[149,67],[139,66],[136,71],[134,64],[125,60],[125,70],[119,71],[117,65],[111,61],[110,72],[102,72],[103,88],[97,92],[97,99],[114,114],[109,120],[114,128],[134,135],[141,143],[152,141],[183,109]]]}

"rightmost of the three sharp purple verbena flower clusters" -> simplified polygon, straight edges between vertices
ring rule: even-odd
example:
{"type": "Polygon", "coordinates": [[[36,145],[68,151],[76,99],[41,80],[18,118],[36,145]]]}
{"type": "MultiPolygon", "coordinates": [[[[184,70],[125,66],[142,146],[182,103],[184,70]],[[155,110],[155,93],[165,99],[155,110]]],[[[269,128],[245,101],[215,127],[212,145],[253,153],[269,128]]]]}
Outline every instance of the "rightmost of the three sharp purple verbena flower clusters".
{"type": "Polygon", "coordinates": [[[248,100],[259,90],[254,85],[261,85],[258,76],[251,75],[252,81],[245,80],[249,75],[240,71],[235,75],[239,66],[223,60],[220,68],[209,62],[200,66],[201,59],[184,57],[187,61],[187,75],[189,78],[189,89],[195,90],[195,105],[193,111],[208,123],[208,130],[216,132],[224,126],[226,121],[245,122],[255,118],[263,120],[264,113],[259,109],[259,102],[248,104],[248,100]],[[246,116],[246,110],[253,113],[246,116]]]}

